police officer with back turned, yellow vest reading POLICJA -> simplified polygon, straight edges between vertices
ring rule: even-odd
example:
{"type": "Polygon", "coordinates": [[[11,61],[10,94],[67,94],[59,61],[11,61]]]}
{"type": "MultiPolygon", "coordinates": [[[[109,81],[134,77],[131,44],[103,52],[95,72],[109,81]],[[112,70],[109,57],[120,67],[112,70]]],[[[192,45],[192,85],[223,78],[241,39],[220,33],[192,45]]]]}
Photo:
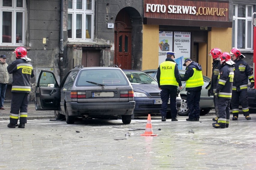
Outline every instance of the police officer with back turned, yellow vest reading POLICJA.
{"type": "Polygon", "coordinates": [[[158,87],[161,90],[162,107],[160,110],[162,121],[166,121],[166,110],[168,107],[168,101],[170,98],[170,108],[172,121],[178,121],[177,119],[177,86],[182,89],[180,73],[178,65],[173,60],[175,58],[175,52],[168,51],[166,53],[166,60],[160,64],[157,70],[157,82],[158,87]]]}

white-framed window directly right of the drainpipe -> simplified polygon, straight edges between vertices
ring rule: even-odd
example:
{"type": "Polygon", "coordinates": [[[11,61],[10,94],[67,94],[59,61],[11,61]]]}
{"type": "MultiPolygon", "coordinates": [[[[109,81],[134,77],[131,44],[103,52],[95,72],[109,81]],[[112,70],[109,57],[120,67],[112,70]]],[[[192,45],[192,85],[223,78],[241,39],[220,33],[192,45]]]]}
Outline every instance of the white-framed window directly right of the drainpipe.
{"type": "Polygon", "coordinates": [[[68,0],[69,42],[93,41],[94,0],[68,0]]]}

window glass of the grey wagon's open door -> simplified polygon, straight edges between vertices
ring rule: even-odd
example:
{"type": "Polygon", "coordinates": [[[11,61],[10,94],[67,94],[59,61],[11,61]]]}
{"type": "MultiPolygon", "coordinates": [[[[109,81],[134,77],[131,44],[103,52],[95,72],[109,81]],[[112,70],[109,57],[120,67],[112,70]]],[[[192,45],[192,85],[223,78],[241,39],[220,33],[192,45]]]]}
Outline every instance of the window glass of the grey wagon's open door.
{"type": "Polygon", "coordinates": [[[43,72],[39,81],[40,87],[56,87],[56,81],[52,72],[43,72]]]}

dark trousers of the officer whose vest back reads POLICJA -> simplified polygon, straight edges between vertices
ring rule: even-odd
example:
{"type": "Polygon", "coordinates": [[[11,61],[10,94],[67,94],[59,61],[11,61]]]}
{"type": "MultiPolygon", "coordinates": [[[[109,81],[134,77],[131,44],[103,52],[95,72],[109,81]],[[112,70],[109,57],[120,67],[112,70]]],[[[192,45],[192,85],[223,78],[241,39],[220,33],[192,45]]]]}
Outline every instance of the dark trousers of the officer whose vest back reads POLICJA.
{"type": "Polygon", "coordinates": [[[161,91],[162,107],[160,109],[161,116],[166,117],[166,110],[167,110],[168,101],[170,98],[170,108],[171,108],[172,118],[177,117],[178,110],[177,110],[176,96],[177,96],[177,88],[172,88],[172,89],[162,88],[162,91],[161,91]]]}

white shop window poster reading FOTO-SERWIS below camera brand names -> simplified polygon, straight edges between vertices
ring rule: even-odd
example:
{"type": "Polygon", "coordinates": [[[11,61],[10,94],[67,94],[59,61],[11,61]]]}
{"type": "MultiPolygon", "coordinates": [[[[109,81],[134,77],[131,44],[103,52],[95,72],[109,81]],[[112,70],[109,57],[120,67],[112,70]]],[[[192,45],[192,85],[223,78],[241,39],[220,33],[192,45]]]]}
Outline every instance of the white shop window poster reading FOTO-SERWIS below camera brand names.
{"type": "Polygon", "coordinates": [[[186,58],[190,58],[190,42],[190,32],[174,32],[173,50],[176,52],[175,62],[178,64],[179,69],[186,69],[182,64],[186,58]]]}

